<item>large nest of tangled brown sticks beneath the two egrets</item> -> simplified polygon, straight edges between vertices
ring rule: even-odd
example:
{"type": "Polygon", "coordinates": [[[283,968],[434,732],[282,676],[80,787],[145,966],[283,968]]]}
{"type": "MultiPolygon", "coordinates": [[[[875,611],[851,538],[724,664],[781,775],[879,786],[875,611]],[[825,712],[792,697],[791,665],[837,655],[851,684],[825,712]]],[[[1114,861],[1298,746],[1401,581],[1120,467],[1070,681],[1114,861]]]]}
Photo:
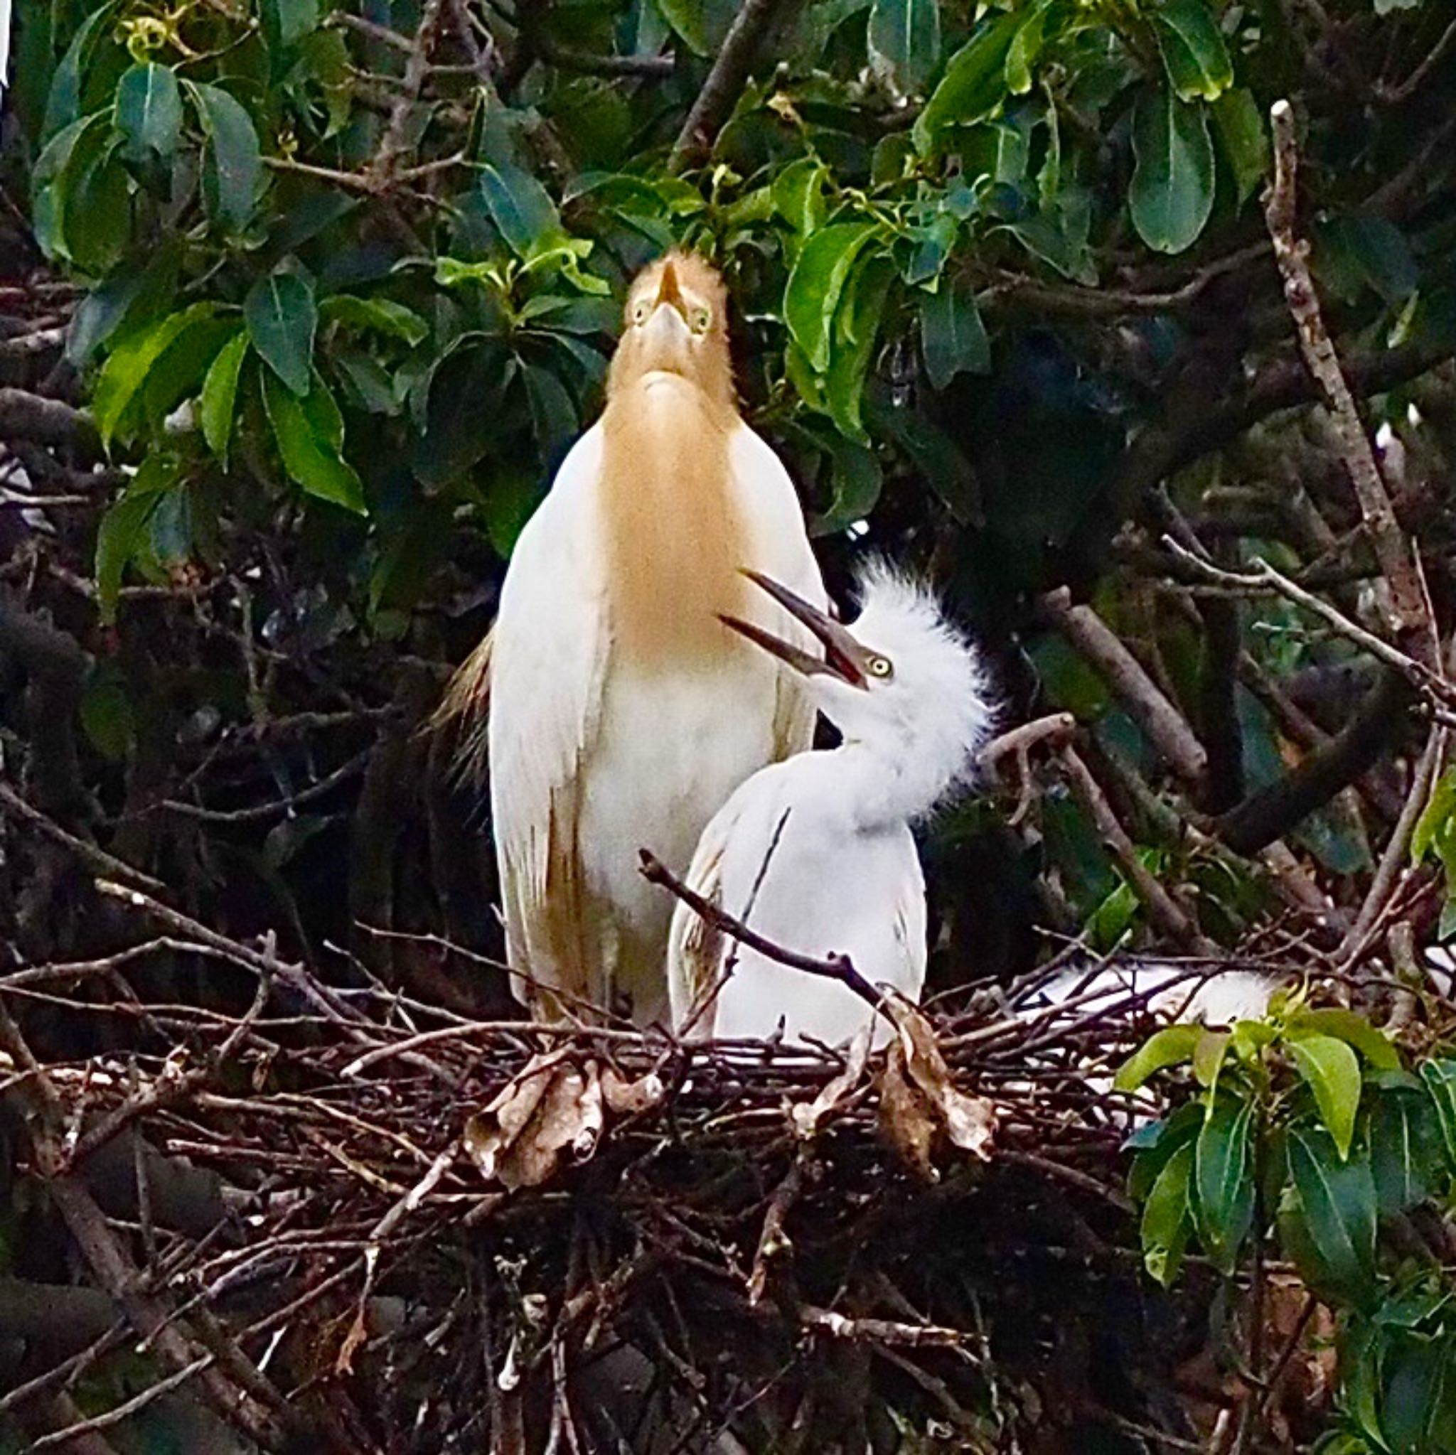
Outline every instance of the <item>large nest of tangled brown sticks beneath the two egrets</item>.
{"type": "Polygon", "coordinates": [[[0,979],[29,1448],[1197,1448],[1088,1084],[1136,997],[874,1056],[475,1023],[102,888],[154,937],[0,979]],[[166,956],[229,1007],[154,1002],[166,956]]]}

